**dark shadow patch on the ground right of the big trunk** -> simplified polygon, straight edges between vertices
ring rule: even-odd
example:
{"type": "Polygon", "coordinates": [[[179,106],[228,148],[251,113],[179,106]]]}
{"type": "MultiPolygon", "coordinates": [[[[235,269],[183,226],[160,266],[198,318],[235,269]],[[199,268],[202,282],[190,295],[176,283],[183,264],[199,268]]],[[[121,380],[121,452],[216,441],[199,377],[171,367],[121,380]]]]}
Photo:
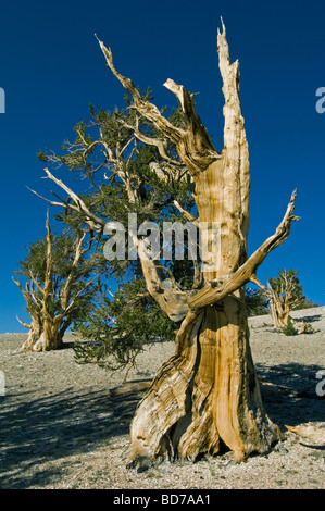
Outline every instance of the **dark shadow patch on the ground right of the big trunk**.
{"type": "Polygon", "coordinates": [[[264,408],[283,431],[286,431],[286,424],[297,426],[325,421],[325,397],[316,391],[320,384],[316,374],[322,370],[324,367],[318,365],[298,363],[257,364],[264,408]]]}

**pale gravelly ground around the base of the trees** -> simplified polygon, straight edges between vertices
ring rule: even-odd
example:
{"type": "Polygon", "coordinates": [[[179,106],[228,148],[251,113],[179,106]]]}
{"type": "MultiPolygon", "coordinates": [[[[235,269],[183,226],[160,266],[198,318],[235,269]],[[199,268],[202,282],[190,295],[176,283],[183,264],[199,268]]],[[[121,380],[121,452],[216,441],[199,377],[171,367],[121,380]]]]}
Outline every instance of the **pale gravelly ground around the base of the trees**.
{"type": "Polygon", "coordinates": [[[71,335],[60,351],[21,354],[13,351],[24,334],[0,335],[0,488],[324,489],[325,443],[285,425],[325,428],[325,307],[292,316],[315,332],[287,337],[271,316],[249,320],[265,409],[284,441],[239,464],[226,452],[142,473],[125,468],[129,423],[141,387],[173,353],[172,342],[148,348],[123,383],[123,373],[78,365],[71,335]]]}

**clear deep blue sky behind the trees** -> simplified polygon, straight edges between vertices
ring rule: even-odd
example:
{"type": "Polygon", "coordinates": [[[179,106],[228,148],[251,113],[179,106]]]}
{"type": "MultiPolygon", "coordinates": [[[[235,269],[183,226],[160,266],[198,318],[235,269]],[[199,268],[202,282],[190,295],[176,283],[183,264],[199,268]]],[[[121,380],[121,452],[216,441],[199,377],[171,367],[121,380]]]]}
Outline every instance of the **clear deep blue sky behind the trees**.
{"type": "Polygon", "coordinates": [[[325,86],[324,3],[321,1],[201,0],[164,2],[57,0],[1,2],[0,114],[1,251],[0,333],[24,332],[15,314],[24,300],[11,276],[25,247],[45,234],[46,147],[59,150],[89,103],[123,104],[124,91],[105,67],[95,33],[113,51],[116,67],[159,107],[175,104],[162,84],[183,84],[222,149],[223,96],[216,33],[223,16],[232,60],[239,59],[241,103],[250,146],[252,252],[282,220],[298,188],[290,238],[272,252],[258,276],[299,269],[308,298],[325,304],[325,114],[315,110],[325,86]]]}

